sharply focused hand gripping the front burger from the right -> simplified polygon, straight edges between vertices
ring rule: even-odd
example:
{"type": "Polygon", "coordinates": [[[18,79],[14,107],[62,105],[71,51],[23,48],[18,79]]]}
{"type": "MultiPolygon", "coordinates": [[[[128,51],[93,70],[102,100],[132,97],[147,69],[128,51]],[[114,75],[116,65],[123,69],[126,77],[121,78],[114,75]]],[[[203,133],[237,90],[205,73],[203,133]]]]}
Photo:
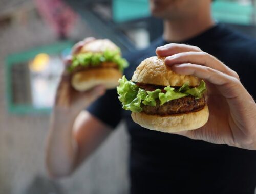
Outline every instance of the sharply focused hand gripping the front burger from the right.
{"type": "Polygon", "coordinates": [[[167,44],[156,53],[166,56],[165,64],[173,71],[202,78],[207,85],[208,122],[176,134],[256,150],[256,103],[235,71],[195,46],[167,44]]]}

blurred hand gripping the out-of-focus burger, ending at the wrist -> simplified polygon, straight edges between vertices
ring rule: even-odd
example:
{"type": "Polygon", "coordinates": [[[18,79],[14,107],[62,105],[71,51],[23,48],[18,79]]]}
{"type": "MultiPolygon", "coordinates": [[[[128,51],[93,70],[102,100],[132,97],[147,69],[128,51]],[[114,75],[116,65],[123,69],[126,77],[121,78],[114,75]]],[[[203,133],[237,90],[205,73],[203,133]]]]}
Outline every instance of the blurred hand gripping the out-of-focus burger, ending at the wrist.
{"type": "MultiPolygon", "coordinates": [[[[76,43],[72,49],[72,55],[78,53],[84,44],[87,44],[95,38],[86,38],[76,43]]],[[[66,66],[71,63],[72,56],[65,59],[66,66]]],[[[102,85],[96,86],[88,91],[80,92],[75,90],[71,85],[71,74],[65,69],[61,75],[60,82],[56,92],[54,109],[73,113],[77,115],[84,108],[88,107],[99,96],[105,93],[102,85]]]]}

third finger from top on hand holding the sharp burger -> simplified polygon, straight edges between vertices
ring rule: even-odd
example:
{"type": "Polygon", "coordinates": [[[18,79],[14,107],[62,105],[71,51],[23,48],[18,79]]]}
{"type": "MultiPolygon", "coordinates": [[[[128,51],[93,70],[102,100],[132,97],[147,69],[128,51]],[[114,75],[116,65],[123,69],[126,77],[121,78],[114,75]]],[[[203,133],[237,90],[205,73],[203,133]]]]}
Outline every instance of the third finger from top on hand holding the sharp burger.
{"type": "Polygon", "coordinates": [[[177,74],[194,75],[217,85],[219,91],[227,99],[236,98],[239,95],[241,96],[242,85],[239,80],[216,69],[187,63],[173,65],[172,70],[177,74]]]}

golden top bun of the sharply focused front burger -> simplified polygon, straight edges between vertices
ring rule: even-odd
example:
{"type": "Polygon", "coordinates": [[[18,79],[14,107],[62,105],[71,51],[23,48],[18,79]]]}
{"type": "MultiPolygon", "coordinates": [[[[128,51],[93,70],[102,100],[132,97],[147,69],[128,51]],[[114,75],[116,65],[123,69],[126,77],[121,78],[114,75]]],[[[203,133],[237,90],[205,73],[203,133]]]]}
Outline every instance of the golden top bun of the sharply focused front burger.
{"type": "Polygon", "coordinates": [[[190,86],[197,86],[200,79],[190,75],[180,75],[172,71],[164,63],[165,57],[150,57],[136,68],[132,77],[133,82],[154,84],[161,86],[182,86],[189,82],[190,86]]]}

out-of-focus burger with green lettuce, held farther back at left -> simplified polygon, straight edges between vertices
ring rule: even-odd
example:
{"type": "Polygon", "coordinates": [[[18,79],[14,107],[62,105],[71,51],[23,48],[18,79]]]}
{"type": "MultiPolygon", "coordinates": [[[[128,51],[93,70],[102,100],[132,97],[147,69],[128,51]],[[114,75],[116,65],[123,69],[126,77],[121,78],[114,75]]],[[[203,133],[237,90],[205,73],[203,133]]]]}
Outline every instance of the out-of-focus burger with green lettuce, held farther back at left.
{"type": "Polygon", "coordinates": [[[127,66],[117,45],[108,39],[97,39],[85,44],[72,57],[68,71],[72,74],[71,85],[78,91],[101,84],[106,89],[113,89],[118,86],[118,80],[127,66]]]}

